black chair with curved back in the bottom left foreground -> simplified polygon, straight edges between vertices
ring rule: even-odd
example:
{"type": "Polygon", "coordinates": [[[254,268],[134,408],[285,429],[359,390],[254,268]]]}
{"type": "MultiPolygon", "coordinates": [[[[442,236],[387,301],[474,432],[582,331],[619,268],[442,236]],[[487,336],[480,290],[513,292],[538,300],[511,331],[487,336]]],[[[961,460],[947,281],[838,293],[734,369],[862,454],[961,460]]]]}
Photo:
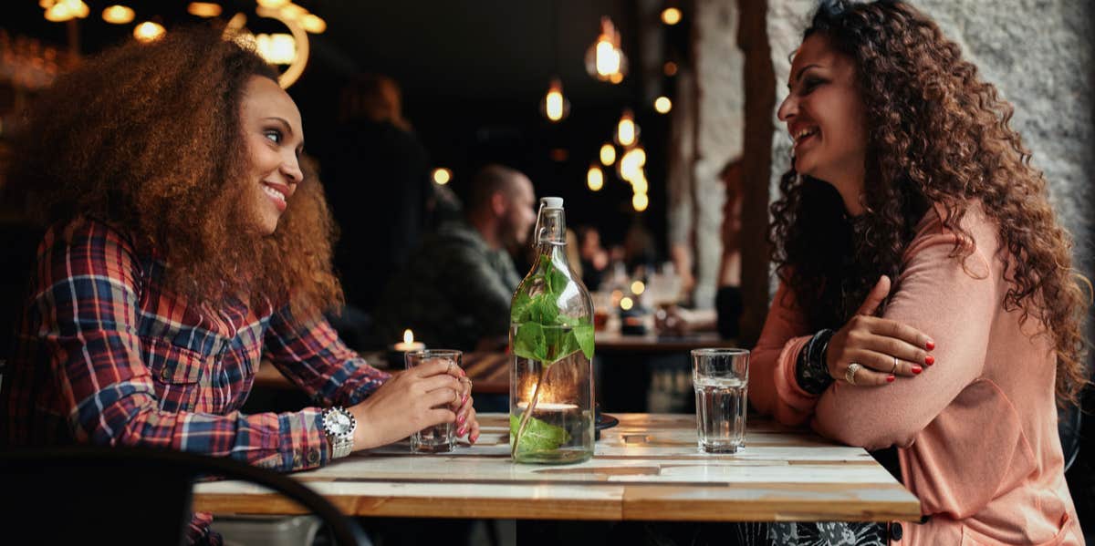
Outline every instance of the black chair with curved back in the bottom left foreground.
{"type": "Polygon", "coordinates": [[[285,475],[230,458],[88,445],[0,453],[0,543],[183,544],[203,476],[277,491],[318,515],[336,544],[369,544],[356,522],[285,475]]]}

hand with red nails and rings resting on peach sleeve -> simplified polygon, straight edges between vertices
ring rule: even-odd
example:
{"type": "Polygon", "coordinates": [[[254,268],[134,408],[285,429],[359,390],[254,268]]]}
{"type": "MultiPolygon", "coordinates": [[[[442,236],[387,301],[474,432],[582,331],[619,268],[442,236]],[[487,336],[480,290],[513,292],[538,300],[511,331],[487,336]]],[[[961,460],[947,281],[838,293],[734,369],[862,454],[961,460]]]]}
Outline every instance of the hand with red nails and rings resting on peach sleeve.
{"type": "Polygon", "coordinates": [[[848,367],[856,362],[855,385],[885,385],[898,375],[913,376],[935,363],[929,351],[935,348],[926,334],[897,321],[873,316],[889,294],[890,280],[885,275],[867,294],[848,324],[833,334],[826,349],[829,374],[845,380],[848,367]]]}

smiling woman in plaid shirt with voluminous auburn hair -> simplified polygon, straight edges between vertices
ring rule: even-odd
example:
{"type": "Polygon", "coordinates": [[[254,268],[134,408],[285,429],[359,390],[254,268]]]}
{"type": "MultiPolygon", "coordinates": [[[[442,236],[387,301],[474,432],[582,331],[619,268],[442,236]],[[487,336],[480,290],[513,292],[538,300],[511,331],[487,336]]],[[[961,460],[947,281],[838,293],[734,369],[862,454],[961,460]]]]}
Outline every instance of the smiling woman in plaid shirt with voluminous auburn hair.
{"type": "MultiPolygon", "coordinates": [[[[379,371],[322,318],[342,299],[333,225],[277,78],[253,49],[195,27],[85,59],[37,97],[9,179],[49,228],[4,371],[0,442],[164,448],[284,472],[441,422],[475,442],[459,369],[379,371]],[[242,415],[264,358],[318,407],[242,415]]],[[[195,514],[188,538],[218,542],[210,521],[195,514]]]]}

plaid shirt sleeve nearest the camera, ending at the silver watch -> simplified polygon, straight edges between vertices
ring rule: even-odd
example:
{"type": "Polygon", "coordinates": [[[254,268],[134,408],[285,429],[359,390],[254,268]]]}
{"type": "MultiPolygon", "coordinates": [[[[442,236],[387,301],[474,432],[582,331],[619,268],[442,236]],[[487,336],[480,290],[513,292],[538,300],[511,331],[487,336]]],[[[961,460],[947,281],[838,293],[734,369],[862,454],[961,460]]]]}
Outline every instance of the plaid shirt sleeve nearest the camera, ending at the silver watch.
{"type": "Polygon", "coordinates": [[[142,360],[142,270],[116,231],[88,222],[66,241],[47,234],[39,255],[37,342],[77,441],[231,456],[276,471],[330,458],[318,408],[244,416],[165,411],[142,360]]]}

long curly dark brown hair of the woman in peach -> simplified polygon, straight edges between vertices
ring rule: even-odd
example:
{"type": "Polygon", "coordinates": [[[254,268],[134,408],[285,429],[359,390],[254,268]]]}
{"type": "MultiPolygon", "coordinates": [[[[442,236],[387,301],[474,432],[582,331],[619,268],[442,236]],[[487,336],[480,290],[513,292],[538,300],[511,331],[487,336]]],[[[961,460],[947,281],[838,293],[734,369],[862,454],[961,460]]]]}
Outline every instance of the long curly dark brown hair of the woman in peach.
{"type": "MultiPolygon", "coordinates": [[[[975,200],[998,224],[1008,311],[1033,316],[1057,347],[1057,397],[1076,404],[1087,383],[1082,321],[1088,298],[1072,268],[1072,239],[1057,222],[1042,173],[1011,128],[1013,107],[964,60],[926,15],[900,1],[822,1],[803,39],[825,36],[852,59],[867,119],[866,212],[844,213],[829,184],[794,167],[772,205],[772,260],[816,328],[843,325],[880,275],[897,282],[901,254],[933,205],[959,235],[975,200]]],[[[1088,283],[1090,287],[1090,283],[1088,283]]],[[[890,293],[895,293],[895,284],[890,293]]]]}

